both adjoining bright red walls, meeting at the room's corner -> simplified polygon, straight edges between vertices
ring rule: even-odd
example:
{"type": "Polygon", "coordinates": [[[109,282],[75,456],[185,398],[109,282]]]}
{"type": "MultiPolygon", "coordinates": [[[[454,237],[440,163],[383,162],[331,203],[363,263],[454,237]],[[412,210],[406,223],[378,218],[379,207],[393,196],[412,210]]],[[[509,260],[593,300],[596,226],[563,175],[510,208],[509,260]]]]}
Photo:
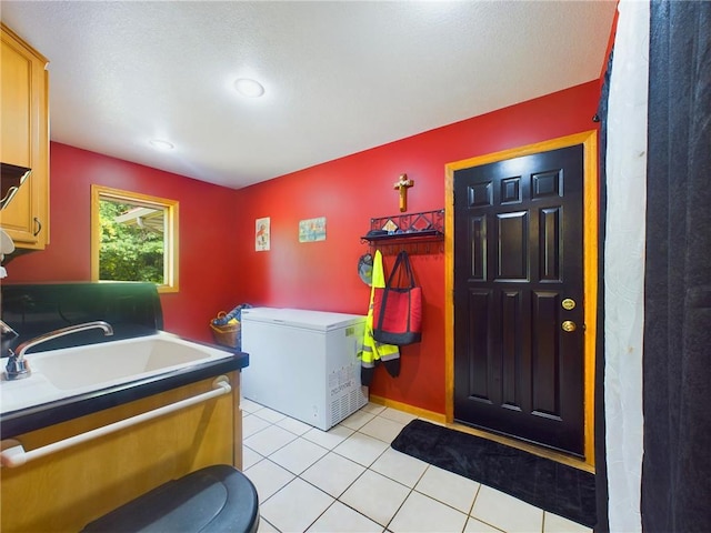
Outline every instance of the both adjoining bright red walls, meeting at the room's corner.
{"type": "MultiPolygon", "coordinates": [[[[401,173],[414,180],[409,212],[442,209],[448,162],[593,129],[599,95],[594,80],[239,191],[52,143],[51,244],[13,260],[9,279],[89,278],[89,188],[99,183],[180,201],[181,291],[161,296],[168,331],[209,340],[214,312],[242,302],[364,314],[360,237],[370,218],[398,214],[401,173]],[[262,217],[271,250],[257,252],[262,217]],[[299,221],[317,217],[327,218],[327,240],[299,243],[299,221]]],[[[443,413],[444,257],[413,255],[412,264],[425,300],[422,342],[402,349],[399,378],[378,369],[371,393],[443,413]]]]}

